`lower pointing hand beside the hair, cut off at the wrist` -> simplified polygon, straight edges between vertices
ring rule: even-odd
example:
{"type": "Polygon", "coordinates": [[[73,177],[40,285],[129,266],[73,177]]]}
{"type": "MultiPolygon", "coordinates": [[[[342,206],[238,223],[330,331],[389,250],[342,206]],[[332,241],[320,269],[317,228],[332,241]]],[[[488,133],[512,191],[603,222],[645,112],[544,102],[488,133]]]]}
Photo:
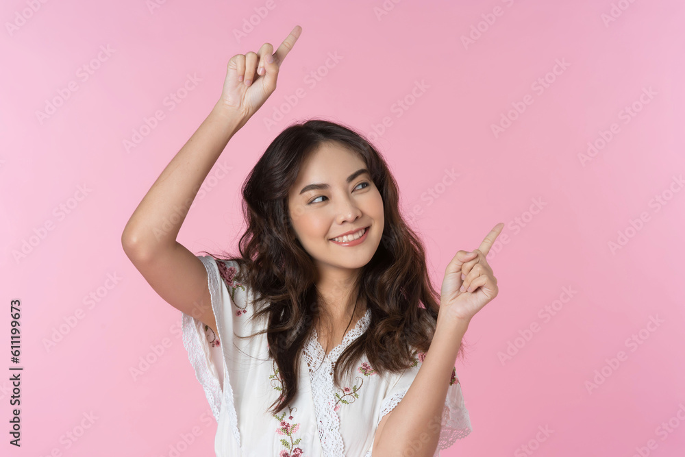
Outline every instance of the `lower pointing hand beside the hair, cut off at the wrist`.
{"type": "Polygon", "coordinates": [[[498,223],[478,249],[458,251],[447,264],[440,290],[438,319],[443,317],[468,324],[479,310],[497,297],[497,278],[486,256],[503,228],[504,223],[498,223]]]}

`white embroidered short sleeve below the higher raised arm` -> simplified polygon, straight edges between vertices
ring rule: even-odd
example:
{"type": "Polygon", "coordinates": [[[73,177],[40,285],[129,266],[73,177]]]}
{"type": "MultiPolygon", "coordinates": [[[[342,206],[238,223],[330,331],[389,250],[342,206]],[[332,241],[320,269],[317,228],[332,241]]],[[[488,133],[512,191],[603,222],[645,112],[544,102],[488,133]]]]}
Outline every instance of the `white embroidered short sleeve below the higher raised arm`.
{"type": "Polygon", "coordinates": [[[233,280],[239,269],[237,262],[215,260],[211,256],[197,257],[207,271],[207,285],[219,334],[215,335],[208,325],[195,317],[182,313],[183,343],[214,418],[218,422],[221,408],[227,408],[234,435],[239,440],[233,388],[227,367],[229,360],[234,358],[234,331],[240,325],[240,319],[245,312],[245,306],[240,306],[244,305],[245,295],[238,295],[236,289],[242,288],[242,291],[245,291],[245,286],[233,280]]]}

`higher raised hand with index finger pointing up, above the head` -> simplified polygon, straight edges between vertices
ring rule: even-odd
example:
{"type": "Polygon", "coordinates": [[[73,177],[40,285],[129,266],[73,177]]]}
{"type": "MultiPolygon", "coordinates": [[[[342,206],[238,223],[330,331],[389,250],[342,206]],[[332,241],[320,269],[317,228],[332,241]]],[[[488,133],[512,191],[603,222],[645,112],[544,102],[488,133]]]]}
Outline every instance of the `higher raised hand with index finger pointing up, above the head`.
{"type": "Polygon", "coordinates": [[[270,43],[264,43],[258,53],[236,54],[228,61],[218,105],[222,110],[238,114],[242,125],[257,112],[276,89],[276,78],[283,60],[302,32],[296,25],[275,53],[270,43]]]}

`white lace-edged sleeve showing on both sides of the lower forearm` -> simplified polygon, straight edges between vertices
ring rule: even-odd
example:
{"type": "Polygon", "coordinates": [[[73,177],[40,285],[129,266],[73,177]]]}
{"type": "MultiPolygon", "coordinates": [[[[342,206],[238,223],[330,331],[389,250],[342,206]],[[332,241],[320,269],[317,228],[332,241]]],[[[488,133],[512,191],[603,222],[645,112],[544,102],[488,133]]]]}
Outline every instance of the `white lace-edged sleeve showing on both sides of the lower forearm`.
{"type": "MultiPolygon", "coordinates": [[[[397,375],[397,381],[394,385],[390,386],[388,393],[386,393],[386,396],[383,399],[378,422],[380,422],[384,415],[392,411],[395,406],[399,404],[407,391],[409,391],[412,382],[414,382],[414,379],[416,378],[416,374],[419,373],[424,358],[424,353],[416,354],[414,366],[406,369],[401,375],[397,375]]],[[[453,445],[457,439],[465,438],[472,430],[469,411],[466,410],[466,406],[464,406],[461,384],[457,378],[456,369],[453,369],[452,378],[447,387],[443,417],[440,421],[440,437],[438,439],[438,447],[436,448],[434,457],[440,456],[441,449],[447,449],[453,445]]]]}

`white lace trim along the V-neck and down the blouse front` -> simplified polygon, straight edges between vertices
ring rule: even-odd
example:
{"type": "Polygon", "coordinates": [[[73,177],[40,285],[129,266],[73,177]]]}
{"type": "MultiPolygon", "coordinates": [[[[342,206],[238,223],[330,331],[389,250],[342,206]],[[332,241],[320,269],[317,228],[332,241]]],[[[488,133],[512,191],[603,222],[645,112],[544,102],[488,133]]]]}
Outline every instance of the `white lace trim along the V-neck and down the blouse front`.
{"type": "Polygon", "coordinates": [[[340,416],[335,408],[335,386],[333,369],[335,362],[345,348],[356,338],[364,334],[371,322],[371,309],[367,309],[351,330],[345,334],[343,341],[328,354],[324,353],[319,343],[316,329],[303,349],[303,355],[309,367],[312,394],[314,396],[314,413],[317,419],[319,439],[323,455],[327,457],[345,457],[345,444],[340,434],[340,416]]]}

